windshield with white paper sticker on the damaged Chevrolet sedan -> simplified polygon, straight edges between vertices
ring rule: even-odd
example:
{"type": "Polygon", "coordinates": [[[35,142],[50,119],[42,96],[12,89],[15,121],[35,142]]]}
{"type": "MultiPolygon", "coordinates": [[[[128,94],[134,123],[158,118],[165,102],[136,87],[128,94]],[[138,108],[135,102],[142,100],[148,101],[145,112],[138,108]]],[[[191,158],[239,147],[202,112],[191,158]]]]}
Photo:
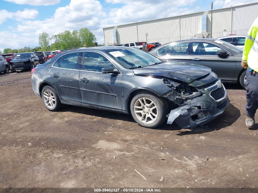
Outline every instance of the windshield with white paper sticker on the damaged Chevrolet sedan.
{"type": "Polygon", "coordinates": [[[104,50],[111,55],[118,63],[126,69],[130,68],[142,68],[162,61],[153,55],[150,55],[140,49],[107,49],[104,50]]]}

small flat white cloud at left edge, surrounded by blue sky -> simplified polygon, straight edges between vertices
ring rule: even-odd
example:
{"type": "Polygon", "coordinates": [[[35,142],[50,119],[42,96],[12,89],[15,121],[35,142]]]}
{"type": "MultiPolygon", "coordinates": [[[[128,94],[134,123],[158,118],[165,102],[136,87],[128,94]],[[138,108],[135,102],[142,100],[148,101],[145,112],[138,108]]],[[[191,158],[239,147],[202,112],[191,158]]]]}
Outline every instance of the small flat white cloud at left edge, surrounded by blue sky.
{"type": "Polygon", "coordinates": [[[0,10],[0,24],[6,21],[6,19],[24,20],[35,19],[38,16],[38,11],[35,9],[18,10],[17,12],[9,12],[7,10],[0,10]]]}

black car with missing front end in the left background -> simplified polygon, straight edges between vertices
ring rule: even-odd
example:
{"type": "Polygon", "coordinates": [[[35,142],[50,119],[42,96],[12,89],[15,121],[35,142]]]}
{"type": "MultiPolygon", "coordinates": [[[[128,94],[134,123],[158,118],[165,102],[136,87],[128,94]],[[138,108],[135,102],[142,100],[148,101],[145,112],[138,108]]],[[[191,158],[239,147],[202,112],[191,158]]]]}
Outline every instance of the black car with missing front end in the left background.
{"type": "Polygon", "coordinates": [[[19,53],[10,61],[11,72],[31,70],[39,64],[38,56],[33,52],[19,53]]]}

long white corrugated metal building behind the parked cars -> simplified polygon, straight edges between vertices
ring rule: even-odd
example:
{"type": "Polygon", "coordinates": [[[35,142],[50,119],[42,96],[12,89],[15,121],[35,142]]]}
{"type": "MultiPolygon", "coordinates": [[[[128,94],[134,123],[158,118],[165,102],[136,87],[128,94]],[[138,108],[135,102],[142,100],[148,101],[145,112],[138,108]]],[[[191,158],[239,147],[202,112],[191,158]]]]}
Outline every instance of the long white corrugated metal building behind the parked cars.
{"type": "MultiPolygon", "coordinates": [[[[212,37],[246,35],[258,17],[258,2],[213,10],[212,37]]],[[[211,11],[103,28],[105,45],[146,41],[165,44],[194,37],[210,37],[211,11]],[[146,37],[147,35],[147,37],[146,37]]]]}

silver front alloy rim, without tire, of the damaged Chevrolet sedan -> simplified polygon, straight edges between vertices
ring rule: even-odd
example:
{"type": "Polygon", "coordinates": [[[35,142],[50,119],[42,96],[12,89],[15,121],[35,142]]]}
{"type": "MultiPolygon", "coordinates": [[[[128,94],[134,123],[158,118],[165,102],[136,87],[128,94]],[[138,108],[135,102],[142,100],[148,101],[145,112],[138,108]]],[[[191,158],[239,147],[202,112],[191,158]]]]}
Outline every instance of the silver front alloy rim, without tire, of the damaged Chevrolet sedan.
{"type": "Polygon", "coordinates": [[[149,98],[139,98],[134,104],[134,113],[143,123],[154,123],[158,118],[158,108],[149,98]]]}

